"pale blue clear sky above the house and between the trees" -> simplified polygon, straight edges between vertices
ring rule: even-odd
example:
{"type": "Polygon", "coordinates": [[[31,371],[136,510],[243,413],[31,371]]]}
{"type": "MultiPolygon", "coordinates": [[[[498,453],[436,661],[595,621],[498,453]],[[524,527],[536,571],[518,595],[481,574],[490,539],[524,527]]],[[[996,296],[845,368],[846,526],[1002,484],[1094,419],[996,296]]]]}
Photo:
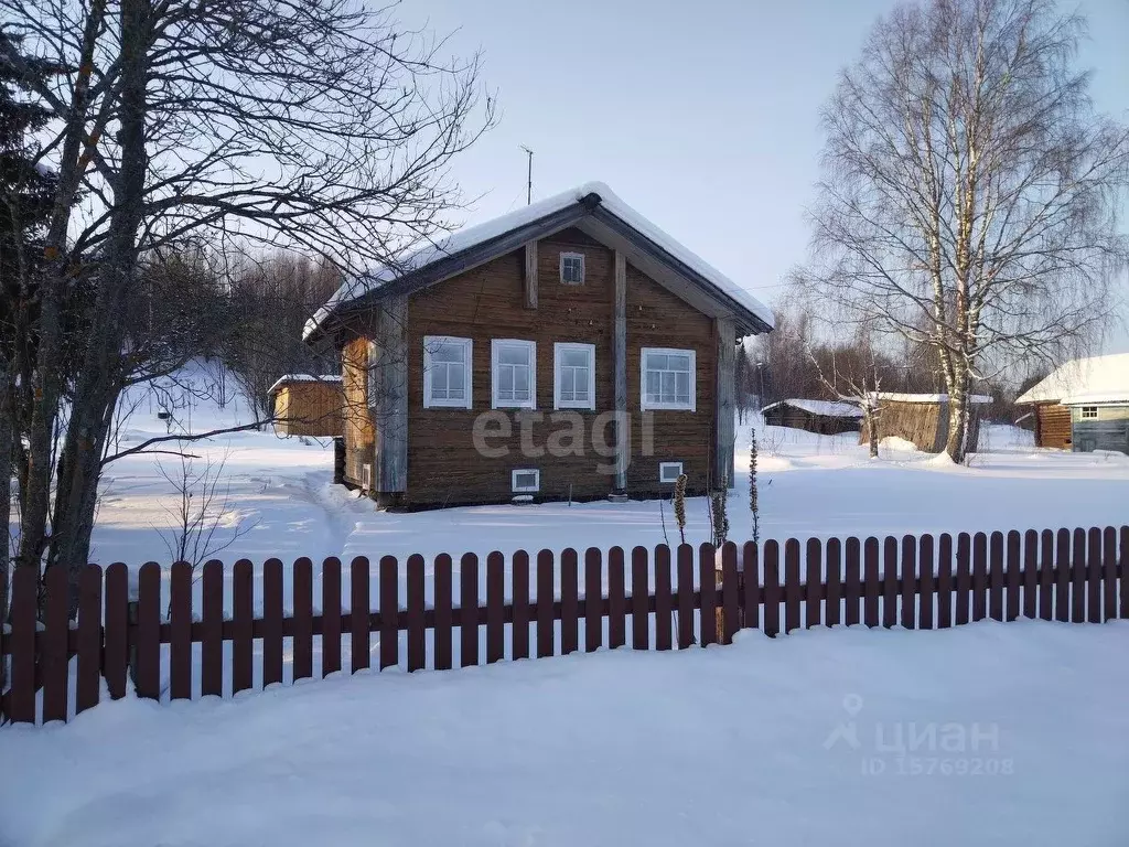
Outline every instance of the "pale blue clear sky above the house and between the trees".
{"type": "MultiPolygon", "coordinates": [[[[396,15],[482,51],[500,121],[452,167],[466,222],[589,181],[765,303],[807,255],[819,112],[895,0],[413,0],[396,15]]],[[[1089,18],[1096,108],[1129,121],[1129,0],[1089,18]]],[[[1129,300],[1129,291],[1126,299],[1129,300]]],[[[1106,352],[1129,351],[1124,325],[1106,352]]]]}

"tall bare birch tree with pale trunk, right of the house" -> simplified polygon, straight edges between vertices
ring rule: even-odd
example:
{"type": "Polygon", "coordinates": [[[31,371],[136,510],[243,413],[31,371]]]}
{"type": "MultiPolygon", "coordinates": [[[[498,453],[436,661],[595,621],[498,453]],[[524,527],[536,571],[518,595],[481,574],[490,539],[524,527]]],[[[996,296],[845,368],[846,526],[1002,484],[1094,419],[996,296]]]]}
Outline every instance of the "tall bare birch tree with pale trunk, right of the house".
{"type": "Polygon", "coordinates": [[[1052,0],[926,0],[881,19],[823,112],[799,279],[834,317],[936,352],[965,449],[971,384],[1100,337],[1127,252],[1129,131],[1052,0]]]}

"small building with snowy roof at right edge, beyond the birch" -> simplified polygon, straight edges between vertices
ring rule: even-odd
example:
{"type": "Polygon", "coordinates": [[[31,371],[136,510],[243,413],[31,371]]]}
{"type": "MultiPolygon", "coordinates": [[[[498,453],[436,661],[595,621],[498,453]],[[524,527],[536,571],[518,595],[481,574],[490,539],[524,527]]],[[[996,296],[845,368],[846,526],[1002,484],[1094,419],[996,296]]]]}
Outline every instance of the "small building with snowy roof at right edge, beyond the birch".
{"type": "Polygon", "coordinates": [[[1038,447],[1129,453],[1129,353],[1073,359],[1015,402],[1032,408],[1038,447]]]}

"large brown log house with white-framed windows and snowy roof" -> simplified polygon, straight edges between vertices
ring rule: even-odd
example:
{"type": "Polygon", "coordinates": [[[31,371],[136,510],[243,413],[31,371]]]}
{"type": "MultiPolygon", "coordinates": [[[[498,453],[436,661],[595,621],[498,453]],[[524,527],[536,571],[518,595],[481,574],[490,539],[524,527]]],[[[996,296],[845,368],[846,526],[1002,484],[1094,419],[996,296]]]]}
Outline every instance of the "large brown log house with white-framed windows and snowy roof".
{"type": "Polygon", "coordinates": [[[734,481],[737,340],[769,309],[590,183],[350,280],[348,484],[387,507],[649,497],[734,481]]]}

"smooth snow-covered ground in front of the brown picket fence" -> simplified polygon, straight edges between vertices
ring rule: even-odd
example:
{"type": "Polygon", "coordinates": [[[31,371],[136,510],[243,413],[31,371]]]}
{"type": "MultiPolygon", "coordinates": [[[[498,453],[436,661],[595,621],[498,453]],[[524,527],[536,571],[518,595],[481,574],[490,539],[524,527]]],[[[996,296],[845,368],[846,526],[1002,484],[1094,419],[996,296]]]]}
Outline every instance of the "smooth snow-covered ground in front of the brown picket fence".
{"type": "Polygon", "coordinates": [[[1126,842],[1129,625],[797,631],[0,731],[0,844],[1126,842]]]}

